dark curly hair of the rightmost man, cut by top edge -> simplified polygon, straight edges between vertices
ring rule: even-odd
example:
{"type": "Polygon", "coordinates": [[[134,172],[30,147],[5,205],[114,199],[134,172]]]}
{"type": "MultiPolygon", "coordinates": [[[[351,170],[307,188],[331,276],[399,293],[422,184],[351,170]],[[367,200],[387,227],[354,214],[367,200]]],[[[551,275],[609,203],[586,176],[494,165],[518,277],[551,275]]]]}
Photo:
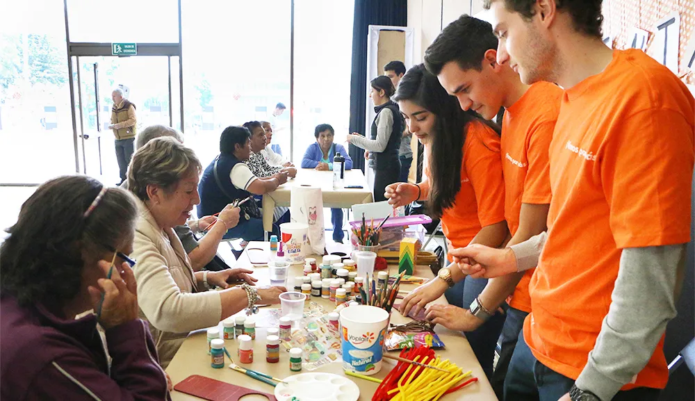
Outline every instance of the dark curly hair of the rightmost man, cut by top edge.
{"type": "MultiPolygon", "coordinates": [[[[499,0],[484,0],[483,7],[488,10],[493,1],[499,0]]],[[[528,20],[536,13],[533,9],[536,0],[504,1],[507,10],[521,14],[521,17],[524,19],[528,20]]],[[[603,32],[601,31],[601,24],[603,24],[601,3],[603,3],[603,0],[555,0],[555,6],[557,6],[558,10],[563,10],[571,15],[576,31],[599,39],[603,38],[603,32]]]]}

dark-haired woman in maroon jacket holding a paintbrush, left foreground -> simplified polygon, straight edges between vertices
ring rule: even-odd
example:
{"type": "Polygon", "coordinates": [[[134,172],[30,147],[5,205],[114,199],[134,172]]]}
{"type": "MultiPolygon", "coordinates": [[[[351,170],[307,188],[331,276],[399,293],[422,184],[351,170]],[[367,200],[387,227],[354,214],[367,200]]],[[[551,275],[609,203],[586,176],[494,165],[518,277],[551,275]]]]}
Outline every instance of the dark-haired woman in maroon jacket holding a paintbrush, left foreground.
{"type": "Polygon", "coordinates": [[[24,202],[0,247],[0,399],[170,400],[127,263],[137,213],[84,176],[24,202]]]}

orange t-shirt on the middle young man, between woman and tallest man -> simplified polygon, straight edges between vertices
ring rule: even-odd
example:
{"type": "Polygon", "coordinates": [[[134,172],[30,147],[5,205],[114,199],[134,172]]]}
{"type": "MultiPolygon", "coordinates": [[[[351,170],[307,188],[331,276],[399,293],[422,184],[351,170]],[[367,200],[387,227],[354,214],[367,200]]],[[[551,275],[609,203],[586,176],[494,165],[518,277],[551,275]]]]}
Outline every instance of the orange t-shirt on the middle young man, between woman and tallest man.
{"type": "MultiPolygon", "coordinates": [[[[502,172],[505,174],[505,218],[509,233],[519,227],[521,204],[549,204],[548,147],[560,109],[562,89],[538,82],[507,108],[502,119],[502,172]]],[[[516,285],[509,306],[531,311],[528,283],[533,270],[526,270],[516,285]]]]}

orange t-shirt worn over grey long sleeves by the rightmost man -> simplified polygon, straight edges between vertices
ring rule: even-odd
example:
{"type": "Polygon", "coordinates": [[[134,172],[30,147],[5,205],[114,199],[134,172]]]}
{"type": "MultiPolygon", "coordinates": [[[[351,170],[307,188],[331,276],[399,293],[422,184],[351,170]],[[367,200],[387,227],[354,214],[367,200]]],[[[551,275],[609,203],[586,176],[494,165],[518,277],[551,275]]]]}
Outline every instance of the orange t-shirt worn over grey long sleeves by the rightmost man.
{"type": "MultiPolygon", "coordinates": [[[[548,239],[523,328],[555,372],[576,379],[586,365],[621,249],[689,242],[694,110],[678,77],[637,49],[614,51],[603,72],[565,91],[550,143],[548,239]]],[[[663,341],[623,390],[666,385],[663,341]]]]}

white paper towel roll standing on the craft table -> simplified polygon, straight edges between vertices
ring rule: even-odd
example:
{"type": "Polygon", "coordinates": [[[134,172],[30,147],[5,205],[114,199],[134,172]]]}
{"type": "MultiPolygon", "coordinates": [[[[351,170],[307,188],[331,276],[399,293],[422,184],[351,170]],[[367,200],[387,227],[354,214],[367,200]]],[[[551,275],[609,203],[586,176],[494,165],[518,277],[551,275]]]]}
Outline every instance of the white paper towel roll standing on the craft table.
{"type": "Polygon", "coordinates": [[[300,185],[290,193],[290,219],[309,226],[309,245],[313,254],[322,255],[326,246],[323,225],[323,195],[318,186],[300,185]]]}

